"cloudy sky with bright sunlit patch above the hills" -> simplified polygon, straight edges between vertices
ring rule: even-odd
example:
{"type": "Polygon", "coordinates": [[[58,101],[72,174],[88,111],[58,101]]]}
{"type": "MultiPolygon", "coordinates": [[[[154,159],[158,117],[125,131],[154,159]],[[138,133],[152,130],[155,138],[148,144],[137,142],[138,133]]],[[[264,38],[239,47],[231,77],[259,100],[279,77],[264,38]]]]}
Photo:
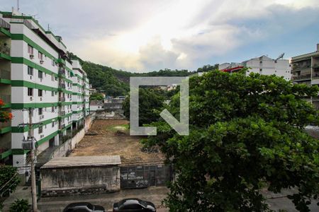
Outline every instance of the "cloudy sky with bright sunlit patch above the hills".
{"type": "Polygon", "coordinates": [[[20,0],[20,11],[82,59],[125,71],[290,58],[319,43],[318,0],[20,0]]]}

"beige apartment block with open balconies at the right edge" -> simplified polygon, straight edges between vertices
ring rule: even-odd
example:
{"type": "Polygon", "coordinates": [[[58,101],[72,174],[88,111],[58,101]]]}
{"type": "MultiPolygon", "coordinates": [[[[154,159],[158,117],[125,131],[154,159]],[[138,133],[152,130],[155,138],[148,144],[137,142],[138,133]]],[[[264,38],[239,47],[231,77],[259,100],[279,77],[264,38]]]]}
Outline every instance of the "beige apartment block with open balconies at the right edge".
{"type": "MultiPolygon", "coordinates": [[[[319,85],[319,44],[317,51],[291,58],[291,80],[308,86],[319,85]]],[[[319,109],[319,98],[308,98],[319,109]]]]}

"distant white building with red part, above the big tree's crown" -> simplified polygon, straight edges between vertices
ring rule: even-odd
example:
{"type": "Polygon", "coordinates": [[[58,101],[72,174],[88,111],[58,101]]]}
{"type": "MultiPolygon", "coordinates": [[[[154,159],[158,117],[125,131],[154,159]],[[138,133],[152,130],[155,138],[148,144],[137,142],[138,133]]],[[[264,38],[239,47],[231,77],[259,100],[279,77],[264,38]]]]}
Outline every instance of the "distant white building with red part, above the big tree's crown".
{"type": "Polygon", "coordinates": [[[240,71],[243,68],[248,69],[247,75],[251,72],[260,73],[262,75],[282,76],[285,80],[291,79],[291,66],[288,59],[271,59],[267,56],[256,57],[241,63],[225,63],[220,64],[218,69],[229,73],[240,71]]]}

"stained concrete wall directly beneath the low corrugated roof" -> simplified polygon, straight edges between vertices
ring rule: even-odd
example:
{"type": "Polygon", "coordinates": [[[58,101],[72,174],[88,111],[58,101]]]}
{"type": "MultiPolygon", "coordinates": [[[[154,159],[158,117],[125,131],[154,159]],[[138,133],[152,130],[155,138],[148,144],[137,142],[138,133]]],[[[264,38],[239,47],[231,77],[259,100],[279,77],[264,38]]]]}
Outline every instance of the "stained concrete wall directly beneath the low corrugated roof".
{"type": "Polygon", "coordinates": [[[41,196],[102,194],[120,190],[120,167],[41,169],[41,196]]]}

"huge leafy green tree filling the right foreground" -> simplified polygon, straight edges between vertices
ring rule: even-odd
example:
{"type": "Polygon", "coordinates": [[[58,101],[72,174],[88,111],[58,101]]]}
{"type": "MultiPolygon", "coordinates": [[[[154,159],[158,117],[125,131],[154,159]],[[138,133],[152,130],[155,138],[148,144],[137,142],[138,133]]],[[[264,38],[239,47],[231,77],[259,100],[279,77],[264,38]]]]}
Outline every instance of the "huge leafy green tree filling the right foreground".
{"type": "MultiPolygon", "coordinates": [[[[159,120],[158,145],[174,165],[165,204],[170,211],[269,211],[261,189],[298,189],[289,196],[298,211],[318,198],[319,143],[303,129],[318,124],[306,96],[318,88],[277,76],[210,71],[190,78],[189,136],[159,120]]],[[[179,98],[169,111],[179,118],[179,98]]]]}

